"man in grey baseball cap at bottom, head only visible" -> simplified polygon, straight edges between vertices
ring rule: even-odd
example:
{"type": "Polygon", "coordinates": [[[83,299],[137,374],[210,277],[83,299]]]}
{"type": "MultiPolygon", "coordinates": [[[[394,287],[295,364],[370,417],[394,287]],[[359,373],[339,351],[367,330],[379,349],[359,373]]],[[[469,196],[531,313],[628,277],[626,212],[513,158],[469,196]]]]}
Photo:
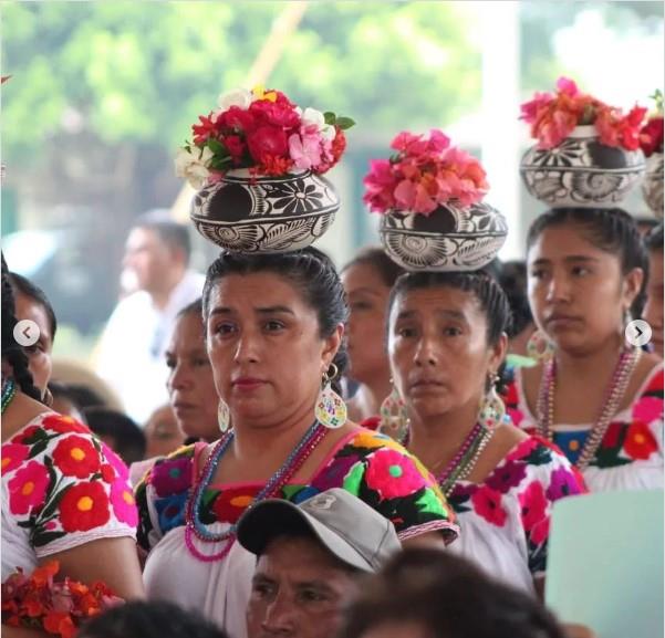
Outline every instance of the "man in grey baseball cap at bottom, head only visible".
{"type": "Polygon", "coordinates": [[[249,638],[329,638],[342,608],[402,548],[393,524],[345,490],[295,505],[269,499],[238,522],[258,556],[247,608],[249,638]]]}

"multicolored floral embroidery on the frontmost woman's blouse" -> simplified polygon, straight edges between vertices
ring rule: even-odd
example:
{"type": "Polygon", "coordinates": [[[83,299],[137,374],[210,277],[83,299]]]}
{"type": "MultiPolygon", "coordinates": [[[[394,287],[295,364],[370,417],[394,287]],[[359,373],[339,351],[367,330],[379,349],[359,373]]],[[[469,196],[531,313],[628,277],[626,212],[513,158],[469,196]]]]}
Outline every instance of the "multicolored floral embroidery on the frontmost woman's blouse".
{"type": "MultiPolygon", "coordinates": [[[[185,524],[194,459],[195,446],[180,448],[157,461],[137,485],[138,543],[145,550],[155,544],[153,532],[160,537],[185,524]]],[[[210,485],[199,511],[201,522],[236,523],[262,487],[210,485]]],[[[300,503],[331,488],[343,488],[374,508],[394,523],[403,540],[435,530],[443,531],[447,543],[457,537],[455,514],[434,477],[384,435],[359,430],[319,469],[309,485],[289,483],[282,488],[280,498],[300,503]]]]}

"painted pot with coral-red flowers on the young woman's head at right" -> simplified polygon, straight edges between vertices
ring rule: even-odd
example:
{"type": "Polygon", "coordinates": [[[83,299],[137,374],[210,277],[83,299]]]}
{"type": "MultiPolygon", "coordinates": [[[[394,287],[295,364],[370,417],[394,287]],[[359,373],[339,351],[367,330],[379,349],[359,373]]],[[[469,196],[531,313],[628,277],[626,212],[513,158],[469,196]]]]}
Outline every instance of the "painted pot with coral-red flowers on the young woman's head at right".
{"type": "Polygon", "coordinates": [[[625,114],[567,77],[554,94],[536,93],[520,116],[538,140],[520,165],[527,189],[551,207],[616,206],[644,174],[645,114],[641,106],[625,114]]]}

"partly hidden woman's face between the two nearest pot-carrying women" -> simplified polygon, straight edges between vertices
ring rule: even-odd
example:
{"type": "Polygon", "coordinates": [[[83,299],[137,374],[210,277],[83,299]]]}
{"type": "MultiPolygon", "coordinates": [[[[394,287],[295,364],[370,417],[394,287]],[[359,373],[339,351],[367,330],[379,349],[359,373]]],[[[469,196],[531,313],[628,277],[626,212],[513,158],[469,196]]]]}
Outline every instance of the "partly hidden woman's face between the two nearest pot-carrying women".
{"type": "Polygon", "coordinates": [[[349,376],[368,383],[388,370],[383,326],[391,289],[367,263],[347,268],[342,273],[342,283],[351,310],[346,324],[349,376]]]}

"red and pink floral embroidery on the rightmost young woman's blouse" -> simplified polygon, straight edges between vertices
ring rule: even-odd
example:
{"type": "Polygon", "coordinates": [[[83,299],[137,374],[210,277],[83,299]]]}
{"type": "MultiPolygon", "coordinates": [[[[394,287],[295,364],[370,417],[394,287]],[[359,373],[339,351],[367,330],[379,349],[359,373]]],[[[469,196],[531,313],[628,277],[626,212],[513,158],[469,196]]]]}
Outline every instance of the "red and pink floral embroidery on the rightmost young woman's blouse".
{"type": "MultiPolygon", "coordinates": [[[[506,409],[516,426],[529,433],[537,427],[520,402],[518,377],[508,370],[503,393],[506,409]]],[[[663,430],[663,368],[652,373],[646,386],[630,407],[630,420],[613,421],[607,427],[590,467],[615,468],[634,461],[662,456],[657,433],[663,430]]],[[[625,412],[625,410],[623,410],[625,412]]],[[[582,451],[589,430],[554,432],[554,443],[574,463],[582,451]]]]}

